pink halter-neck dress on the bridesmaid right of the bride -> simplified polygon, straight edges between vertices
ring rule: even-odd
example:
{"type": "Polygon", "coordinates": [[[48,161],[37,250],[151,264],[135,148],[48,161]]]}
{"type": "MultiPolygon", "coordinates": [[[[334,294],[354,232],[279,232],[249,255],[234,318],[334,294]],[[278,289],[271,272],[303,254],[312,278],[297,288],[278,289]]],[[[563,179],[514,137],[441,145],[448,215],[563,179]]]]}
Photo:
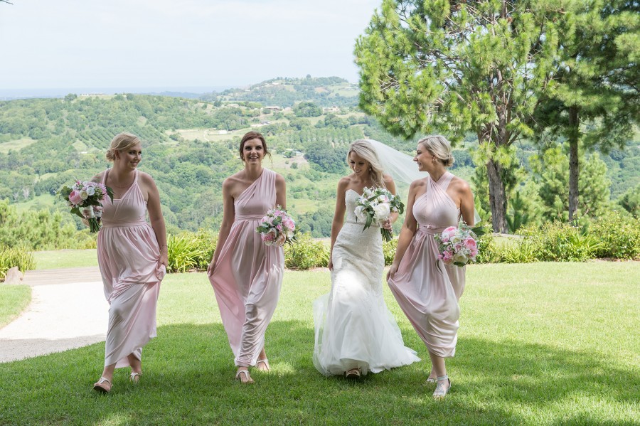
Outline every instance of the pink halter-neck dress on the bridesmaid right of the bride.
{"type": "Polygon", "coordinates": [[[439,262],[434,235],[456,226],[460,209],[447,194],[454,175],[445,172],[439,181],[427,176],[427,192],[416,198],[413,215],[417,230],[398,272],[388,284],[400,308],[413,325],[427,349],[437,356],[454,356],[460,309],[458,300],[464,291],[465,267],[439,262]]]}

